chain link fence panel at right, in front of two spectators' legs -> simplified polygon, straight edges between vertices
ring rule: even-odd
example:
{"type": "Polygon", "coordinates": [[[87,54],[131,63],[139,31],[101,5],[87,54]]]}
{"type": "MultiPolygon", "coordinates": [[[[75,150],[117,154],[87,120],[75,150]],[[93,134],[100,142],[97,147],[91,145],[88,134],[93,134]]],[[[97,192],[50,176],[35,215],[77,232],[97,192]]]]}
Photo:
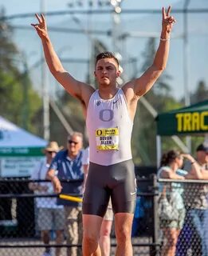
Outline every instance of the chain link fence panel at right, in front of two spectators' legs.
{"type": "Polygon", "coordinates": [[[208,255],[208,182],[159,180],[162,255],[208,255]]]}

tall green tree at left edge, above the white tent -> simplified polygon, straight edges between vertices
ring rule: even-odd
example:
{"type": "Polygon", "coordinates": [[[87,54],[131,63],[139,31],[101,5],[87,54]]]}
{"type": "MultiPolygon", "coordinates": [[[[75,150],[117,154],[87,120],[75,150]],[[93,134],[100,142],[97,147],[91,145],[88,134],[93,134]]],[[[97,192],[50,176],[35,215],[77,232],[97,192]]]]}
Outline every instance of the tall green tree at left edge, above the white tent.
{"type": "MultiPolygon", "coordinates": [[[[12,41],[13,30],[0,11],[0,114],[18,126],[38,134],[34,122],[41,99],[33,90],[26,62],[12,41]],[[18,62],[18,65],[17,65],[18,62]],[[25,70],[18,70],[24,64],[25,70]]],[[[40,121],[39,121],[40,122],[40,121]]],[[[41,134],[39,134],[41,135],[41,134]]]]}

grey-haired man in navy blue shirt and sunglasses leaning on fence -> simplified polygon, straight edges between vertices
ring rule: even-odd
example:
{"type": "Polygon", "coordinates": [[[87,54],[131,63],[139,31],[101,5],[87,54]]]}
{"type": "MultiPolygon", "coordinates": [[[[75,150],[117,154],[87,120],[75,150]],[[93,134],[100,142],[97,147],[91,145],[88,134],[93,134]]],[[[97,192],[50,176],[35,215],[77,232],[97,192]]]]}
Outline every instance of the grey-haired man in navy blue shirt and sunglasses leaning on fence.
{"type": "MultiPolygon", "coordinates": [[[[82,149],[83,135],[74,132],[67,138],[67,150],[62,150],[53,159],[49,170],[48,178],[53,182],[53,189],[61,194],[81,194],[84,173],[82,170],[82,149]],[[69,180],[69,183],[61,180],[69,180]],[[81,180],[70,182],[73,180],[81,180]]],[[[57,203],[63,205],[65,209],[65,228],[67,244],[71,247],[67,249],[68,256],[81,255],[77,244],[82,241],[82,218],[81,206],[79,202],[71,202],[58,199],[57,203]]]]}

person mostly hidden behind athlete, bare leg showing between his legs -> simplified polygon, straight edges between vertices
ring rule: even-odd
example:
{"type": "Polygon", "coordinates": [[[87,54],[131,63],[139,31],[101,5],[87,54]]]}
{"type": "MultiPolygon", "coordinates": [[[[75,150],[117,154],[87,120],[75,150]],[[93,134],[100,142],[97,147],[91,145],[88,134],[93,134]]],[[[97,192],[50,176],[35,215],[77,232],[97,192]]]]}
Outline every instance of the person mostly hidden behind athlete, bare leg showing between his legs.
{"type": "MultiPolygon", "coordinates": [[[[88,166],[89,166],[89,147],[84,150],[84,155],[82,159],[83,170],[84,170],[84,184],[88,177],[88,166]]],[[[111,253],[111,230],[113,222],[113,211],[112,202],[110,200],[108,204],[108,209],[104,215],[104,219],[100,229],[100,250],[102,256],[110,256],[111,253]]]]}

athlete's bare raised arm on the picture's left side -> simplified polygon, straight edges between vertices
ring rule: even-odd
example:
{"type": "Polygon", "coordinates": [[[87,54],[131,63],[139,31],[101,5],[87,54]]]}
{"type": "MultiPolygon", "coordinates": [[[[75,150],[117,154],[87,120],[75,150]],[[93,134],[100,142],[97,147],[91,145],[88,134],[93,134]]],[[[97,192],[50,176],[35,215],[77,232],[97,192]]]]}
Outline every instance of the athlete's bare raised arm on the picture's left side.
{"type": "Polygon", "coordinates": [[[80,101],[84,102],[86,105],[88,98],[94,89],[84,82],[77,81],[64,69],[56,51],[53,49],[53,44],[50,41],[44,15],[41,14],[41,17],[38,14],[35,15],[38,23],[31,25],[35,28],[37,34],[41,38],[45,60],[49,66],[50,72],[53,74],[54,78],[57,79],[57,82],[65,87],[65,90],[67,90],[69,94],[80,99],[80,101]]]}

